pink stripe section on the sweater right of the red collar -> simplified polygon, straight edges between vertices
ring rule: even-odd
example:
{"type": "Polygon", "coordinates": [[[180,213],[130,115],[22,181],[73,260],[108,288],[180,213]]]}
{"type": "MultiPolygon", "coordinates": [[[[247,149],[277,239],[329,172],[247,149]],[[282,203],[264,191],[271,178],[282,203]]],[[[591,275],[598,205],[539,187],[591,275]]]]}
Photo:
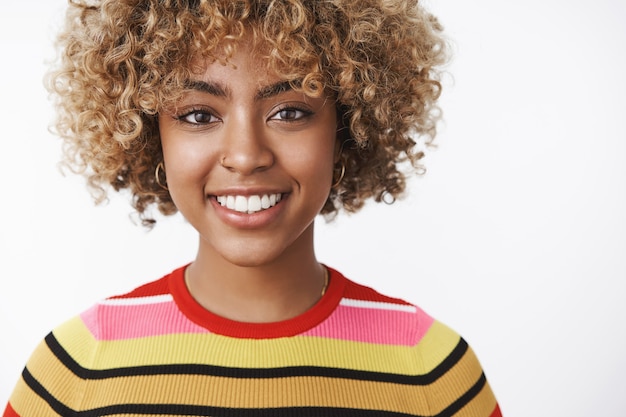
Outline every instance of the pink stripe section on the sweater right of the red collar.
{"type": "Polygon", "coordinates": [[[305,333],[355,342],[415,346],[434,319],[416,312],[348,307],[340,305],[328,320],[305,333]]]}

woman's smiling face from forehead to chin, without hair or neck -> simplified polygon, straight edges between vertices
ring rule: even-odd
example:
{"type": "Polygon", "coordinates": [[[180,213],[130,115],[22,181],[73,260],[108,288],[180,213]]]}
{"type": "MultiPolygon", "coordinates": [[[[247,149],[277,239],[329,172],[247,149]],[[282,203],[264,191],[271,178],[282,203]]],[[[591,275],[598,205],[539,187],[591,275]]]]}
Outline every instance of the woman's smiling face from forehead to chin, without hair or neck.
{"type": "Polygon", "coordinates": [[[294,91],[244,44],[231,63],[206,66],[159,115],[172,199],[201,250],[233,264],[310,256],[332,182],[335,103],[294,91]]]}

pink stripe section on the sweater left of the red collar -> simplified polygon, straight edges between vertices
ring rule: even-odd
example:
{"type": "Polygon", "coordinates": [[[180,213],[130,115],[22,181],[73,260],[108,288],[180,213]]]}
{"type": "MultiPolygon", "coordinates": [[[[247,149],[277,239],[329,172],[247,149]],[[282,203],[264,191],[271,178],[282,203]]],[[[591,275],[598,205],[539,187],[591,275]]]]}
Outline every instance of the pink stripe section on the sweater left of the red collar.
{"type": "Polygon", "coordinates": [[[208,333],[173,301],[144,305],[96,305],[81,315],[96,340],[123,340],[180,333],[208,333]]]}

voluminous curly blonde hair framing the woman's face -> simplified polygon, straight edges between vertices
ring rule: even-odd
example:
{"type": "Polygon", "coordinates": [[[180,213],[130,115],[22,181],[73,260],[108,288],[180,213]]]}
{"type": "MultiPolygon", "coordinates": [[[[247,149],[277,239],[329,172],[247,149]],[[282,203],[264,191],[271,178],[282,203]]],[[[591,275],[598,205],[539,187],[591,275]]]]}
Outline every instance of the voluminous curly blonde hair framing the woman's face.
{"type": "Polygon", "coordinates": [[[63,162],[98,202],[109,187],[128,190],[145,225],[152,204],[175,213],[155,179],[158,113],[180,97],[194,57],[228,56],[252,33],[273,70],[336,100],[345,176],[322,214],[395,199],[404,163],[422,168],[416,138],[436,134],[441,32],[418,0],[70,0],[48,83],[63,162]]]}

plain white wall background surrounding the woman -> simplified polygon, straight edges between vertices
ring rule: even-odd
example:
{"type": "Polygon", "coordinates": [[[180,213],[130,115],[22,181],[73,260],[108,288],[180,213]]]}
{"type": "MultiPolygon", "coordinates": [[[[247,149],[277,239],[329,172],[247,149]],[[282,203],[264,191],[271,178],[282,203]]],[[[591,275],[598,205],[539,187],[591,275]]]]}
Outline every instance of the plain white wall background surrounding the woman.
{"type": "MultiPolygon", "coordinates": [[[[56,168],[45,59],[64,0],[0,15],[0,408],[36,343],[195,254],[56,168]]],[[[626,413],[626,4],[430,0],[455,48],[428,174],[320,222],[319,258],[462,333],[508,417],[626,413]]]]}

